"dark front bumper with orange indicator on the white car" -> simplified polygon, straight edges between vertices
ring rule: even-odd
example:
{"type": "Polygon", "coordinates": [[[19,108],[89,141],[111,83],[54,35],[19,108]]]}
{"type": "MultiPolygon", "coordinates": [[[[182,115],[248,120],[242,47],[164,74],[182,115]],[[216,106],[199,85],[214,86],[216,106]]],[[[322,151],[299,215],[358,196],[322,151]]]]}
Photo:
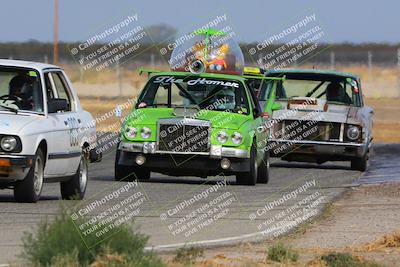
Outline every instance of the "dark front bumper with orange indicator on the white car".
{"type": "Polygon", "coordinates": [[[35,156],[0,155],[0,183],[23,180],[35,156]]]}

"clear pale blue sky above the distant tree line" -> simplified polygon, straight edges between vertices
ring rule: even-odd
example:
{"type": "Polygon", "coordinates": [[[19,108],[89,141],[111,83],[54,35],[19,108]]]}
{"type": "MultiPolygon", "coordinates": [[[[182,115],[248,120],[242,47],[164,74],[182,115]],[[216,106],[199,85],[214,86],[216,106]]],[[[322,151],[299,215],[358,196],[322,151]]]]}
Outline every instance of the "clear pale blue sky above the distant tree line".
{"type": "MultiPolygon", "coordinates": [[[[186,33],[227,14],[238,41],[262,41],[307,14],[316,14],[332,43],[400,43],[400,2],[389,1],[128,1],[59,0],[61,41],[80,41],[114,25],[128,13],[143,26],[167,24],[186,33]]],[[[0,42],[52,41],[54,0],[3,0],[0,42]]]]}

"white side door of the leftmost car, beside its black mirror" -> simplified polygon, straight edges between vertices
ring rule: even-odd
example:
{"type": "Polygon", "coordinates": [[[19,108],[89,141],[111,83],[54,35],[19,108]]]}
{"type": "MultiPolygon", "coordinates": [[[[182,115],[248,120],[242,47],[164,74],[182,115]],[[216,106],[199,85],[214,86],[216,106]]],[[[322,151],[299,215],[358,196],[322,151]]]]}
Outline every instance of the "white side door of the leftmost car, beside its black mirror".
{"type": "Polygon", "coordinates": [[[79,162],[80,151],[78,151],[78,118],[76,107],[71,92],[65,82],[65,78],[60,71],[50,71],[45,73],[45,79],[48,79],[52,88],[48,91],[47,100],[59,98],[67,100],[67,109],[55,113],[49,113],[49,119],[52,120],[54,129],[52,130],[52,140],[54,146],[49,151],[49,162],[51,167],[50,175],[71,175],[75,173],[79,162]]]}

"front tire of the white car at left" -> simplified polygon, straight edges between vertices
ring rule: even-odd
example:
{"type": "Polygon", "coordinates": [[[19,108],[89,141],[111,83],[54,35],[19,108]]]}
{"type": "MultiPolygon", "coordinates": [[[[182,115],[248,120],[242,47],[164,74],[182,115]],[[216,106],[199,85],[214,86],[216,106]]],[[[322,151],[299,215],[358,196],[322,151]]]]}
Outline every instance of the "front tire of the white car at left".
{"type": "Polygon", "coordinates": [[[30,168],[28,174],[14,186],[15,201],[36,203],[39,200],[43,188],[44,160],[43,152],[38,149],[33,166],[30,168]]]}

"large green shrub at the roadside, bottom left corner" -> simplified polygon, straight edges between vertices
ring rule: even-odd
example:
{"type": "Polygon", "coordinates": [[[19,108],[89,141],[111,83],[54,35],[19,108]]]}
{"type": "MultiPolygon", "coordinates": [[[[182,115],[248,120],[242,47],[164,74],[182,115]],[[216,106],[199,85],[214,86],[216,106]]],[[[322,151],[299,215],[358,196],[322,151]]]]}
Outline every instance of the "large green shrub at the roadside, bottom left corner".
{"type": "Polygon", "coordinates": [[[21,257],[34,266],[56,263],[59,266],[60,262],[75,257],[79,266],[87,266],[99,255],[107,253],[123,255],[128,262],[134,261],[135,266],[162,266],[155,254],[144,252],[148,237],[135,233],[129,224],[120,224],[115,230],[111,237],[88,249],[71,220],[70,212],[61,206],[53,221],[40,223],[34,233],[24,233],[21,257]],[[142,265],[144,262],[155,265],[142,265]]]}

